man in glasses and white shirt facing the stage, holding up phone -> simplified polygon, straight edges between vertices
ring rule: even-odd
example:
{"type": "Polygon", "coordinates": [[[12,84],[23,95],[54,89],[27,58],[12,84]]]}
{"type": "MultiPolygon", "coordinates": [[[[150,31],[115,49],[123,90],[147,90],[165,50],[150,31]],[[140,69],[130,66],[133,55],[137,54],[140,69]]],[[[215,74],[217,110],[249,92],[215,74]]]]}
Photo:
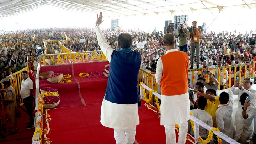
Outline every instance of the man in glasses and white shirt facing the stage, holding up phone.
{"type": "MultiPolygon", "coordinates": [[[[234,85],[230,89],[233,94],[238,95],[238,99],[240,99],[243,93],[247,93],[251,99],[254,99],[256,96],[256,90],[252,89],[251,85],[252,83],[249,81],[249,78],[245,78],[244,81],[242,81],[242,85],[238,81],[235,81],[234,85]],[[235,89],[236,87],[238,87],[238,89],[235,89]]],[[[238,107],[242,107],[240,101],[238,101],[238,107]]]]}

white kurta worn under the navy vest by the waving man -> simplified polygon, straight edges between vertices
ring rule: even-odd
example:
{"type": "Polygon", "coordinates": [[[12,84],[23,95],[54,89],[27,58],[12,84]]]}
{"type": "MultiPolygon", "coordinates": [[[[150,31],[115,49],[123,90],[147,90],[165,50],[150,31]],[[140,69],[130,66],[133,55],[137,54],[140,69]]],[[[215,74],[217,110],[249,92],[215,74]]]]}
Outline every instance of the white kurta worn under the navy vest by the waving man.
{"type": "MultiPolygon", "coordinates": [[[[114,49],[107,43],[100,27],[95,27],[98,44],[102,52],[111,62],[111,55],[114,49]]],[[[142,62],[141,62],[142,63],[142,62]]],[[[142,64],[141,64],[142,65],[142,64]]],[[[140,66],[141,66],[140,65],[140,66]]],[[[136,104],[116,104],[103,99],[101,105],[101,124],[114,129],[129,129],[139,124],[138,105],[136,104]]]]}

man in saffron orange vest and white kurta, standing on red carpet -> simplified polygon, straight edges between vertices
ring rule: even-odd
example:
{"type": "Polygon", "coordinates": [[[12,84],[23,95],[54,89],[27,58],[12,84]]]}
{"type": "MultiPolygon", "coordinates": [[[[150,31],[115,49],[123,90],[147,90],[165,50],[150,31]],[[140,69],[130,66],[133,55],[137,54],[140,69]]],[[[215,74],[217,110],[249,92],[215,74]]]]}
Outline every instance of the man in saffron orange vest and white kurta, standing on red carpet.
{"type": "Polygon", "coordinates": [[[164,35],[166,54],[159,57],[156,82],[162,90],[161,125],[165,127],[166,143],[176,143],[175,123],[180,126],[178,143],[186,142],[189,120],[188,65],[186,52],[175,49],[174,34],[164,35]],[[175,70],[175,71],[174,71],[175,70]]]}

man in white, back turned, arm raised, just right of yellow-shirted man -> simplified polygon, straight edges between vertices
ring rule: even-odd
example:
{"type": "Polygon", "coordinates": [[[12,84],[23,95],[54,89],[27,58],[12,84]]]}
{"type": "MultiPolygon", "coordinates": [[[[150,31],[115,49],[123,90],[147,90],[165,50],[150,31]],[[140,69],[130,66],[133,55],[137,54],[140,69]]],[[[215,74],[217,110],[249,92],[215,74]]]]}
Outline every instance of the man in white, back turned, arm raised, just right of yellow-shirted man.
{"type": "MultiPolygon", "coordinates": [[[[234,99],[233,93],[230,90],[228,83],[226,83],[226,88],[228,93],[220,93],[220,104],[218,106],[218,109],[216,110],[216,122],[220,132],[224,133],[230,138],[233,138],[235,134],[235,127],[232,118],[234,99]]],[[[222,143],[227,142],[225,140],[222,140],[222,143]]]]}

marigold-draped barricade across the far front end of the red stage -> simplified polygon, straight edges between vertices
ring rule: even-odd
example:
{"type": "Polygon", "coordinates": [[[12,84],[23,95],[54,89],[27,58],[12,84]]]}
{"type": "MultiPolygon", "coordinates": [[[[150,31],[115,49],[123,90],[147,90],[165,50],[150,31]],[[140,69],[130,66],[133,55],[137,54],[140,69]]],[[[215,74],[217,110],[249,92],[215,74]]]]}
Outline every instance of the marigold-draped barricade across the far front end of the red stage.
{"type": "Polygon", "coordinates": [[[39,55],[40,66],[107,61],[101,50],[39,55]],[[74,57],[74,59],[72,59],[74,57]]]}

